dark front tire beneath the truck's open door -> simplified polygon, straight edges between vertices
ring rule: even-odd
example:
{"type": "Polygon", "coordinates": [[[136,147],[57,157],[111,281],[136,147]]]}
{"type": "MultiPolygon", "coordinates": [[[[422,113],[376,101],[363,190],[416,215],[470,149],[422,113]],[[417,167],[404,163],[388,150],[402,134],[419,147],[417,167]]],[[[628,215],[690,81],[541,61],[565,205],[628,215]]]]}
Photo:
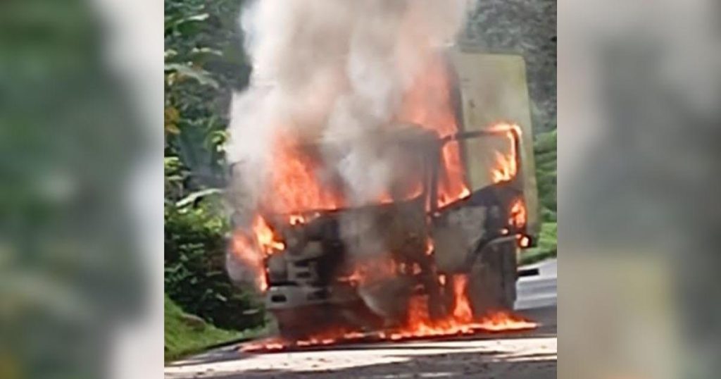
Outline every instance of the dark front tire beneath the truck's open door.
{"type": "Polygon", "coordinates": [[[468,295],[474,316],[492,311],[513,310],[516,302],[516,244],[492,246],[474,263],[471,269],[468,295]]]}

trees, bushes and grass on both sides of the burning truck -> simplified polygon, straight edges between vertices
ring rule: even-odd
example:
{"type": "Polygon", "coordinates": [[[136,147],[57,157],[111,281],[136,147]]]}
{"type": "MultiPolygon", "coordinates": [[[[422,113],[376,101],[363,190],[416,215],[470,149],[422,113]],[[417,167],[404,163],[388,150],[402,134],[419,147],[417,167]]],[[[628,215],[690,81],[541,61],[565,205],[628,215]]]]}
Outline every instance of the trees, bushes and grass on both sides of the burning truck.
{"type": "MultiPolygon", "coordinates": [[[[226,129],[231,95],[251,72],[239,20],[252,2],[164,2],[166,360],[275,328],[256,289],[226,274],[226,129]]],[[[520,54],[528,66],[544,222],[539,246],[523,254],[522,263],[532,263],[557,253],[556,2],[471,2],[456,42],[520,54]]]]}

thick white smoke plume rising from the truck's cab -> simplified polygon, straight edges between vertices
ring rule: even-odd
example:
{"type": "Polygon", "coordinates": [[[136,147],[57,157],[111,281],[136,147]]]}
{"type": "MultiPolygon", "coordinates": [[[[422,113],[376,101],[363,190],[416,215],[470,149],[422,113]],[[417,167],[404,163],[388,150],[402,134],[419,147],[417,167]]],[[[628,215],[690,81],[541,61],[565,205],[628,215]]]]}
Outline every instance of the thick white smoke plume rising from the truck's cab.
{"type": "Polygon", "coordinates": [[[242,15],[253,72],[234,95],[233,191],[246,205],[265,193],[278,131],[337,144],[339,173],[355,204],[376,199],[394,174],[392,154],[376,154],[374,131],[393,127],[402,97],[421,68],[452,43],[464,0],[260,0],[242,15]]]}

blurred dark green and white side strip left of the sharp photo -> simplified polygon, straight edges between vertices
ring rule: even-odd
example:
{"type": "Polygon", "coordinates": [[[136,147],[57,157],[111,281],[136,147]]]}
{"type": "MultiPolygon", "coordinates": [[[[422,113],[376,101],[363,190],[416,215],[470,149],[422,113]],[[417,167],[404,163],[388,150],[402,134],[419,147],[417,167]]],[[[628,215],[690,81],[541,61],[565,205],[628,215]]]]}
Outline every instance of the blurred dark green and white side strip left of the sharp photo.
{"type": "Polygon", "coordinates": [[[0,4],[0,378],[162,375],[161,51],[159,4],[0,4]]]}

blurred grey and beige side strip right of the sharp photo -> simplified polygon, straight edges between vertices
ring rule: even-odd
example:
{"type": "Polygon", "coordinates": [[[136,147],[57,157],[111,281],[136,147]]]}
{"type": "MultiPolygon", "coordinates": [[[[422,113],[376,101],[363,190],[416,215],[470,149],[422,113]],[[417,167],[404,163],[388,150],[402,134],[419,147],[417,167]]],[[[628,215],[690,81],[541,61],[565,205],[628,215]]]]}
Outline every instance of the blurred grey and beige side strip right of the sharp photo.
{"type": "Polygon", "coordinates": [[[720,17],[559,1],[559,378],[721,375],[720,17]]]}

